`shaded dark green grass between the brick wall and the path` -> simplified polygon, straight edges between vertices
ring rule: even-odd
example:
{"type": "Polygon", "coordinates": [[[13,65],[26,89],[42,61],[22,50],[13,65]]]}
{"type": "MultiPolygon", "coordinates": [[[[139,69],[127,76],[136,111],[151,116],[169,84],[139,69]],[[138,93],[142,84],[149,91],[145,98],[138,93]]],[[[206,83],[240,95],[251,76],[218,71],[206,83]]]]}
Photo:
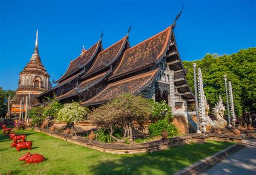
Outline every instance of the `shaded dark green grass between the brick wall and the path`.
{"type": "Polygon", "coordinates": [[[171,174],[218,152],[231,144],[205,143],[177,146],[163,151],[123,155],[120,159],[97,160],[93,174],[171,174]]]}

